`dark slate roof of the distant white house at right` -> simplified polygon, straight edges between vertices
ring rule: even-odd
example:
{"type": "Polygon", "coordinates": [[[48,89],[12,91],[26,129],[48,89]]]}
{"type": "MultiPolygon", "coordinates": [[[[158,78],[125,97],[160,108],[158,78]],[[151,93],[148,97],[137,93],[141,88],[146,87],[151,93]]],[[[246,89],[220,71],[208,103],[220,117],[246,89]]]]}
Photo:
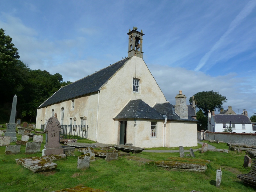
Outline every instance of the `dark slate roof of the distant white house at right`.
{"type": "Polygon", "coordinates": [[[222,115],[217,114],[213,116],[215,123],[242,123],[251,124],[251,121],[246,115],[222,115]]]}

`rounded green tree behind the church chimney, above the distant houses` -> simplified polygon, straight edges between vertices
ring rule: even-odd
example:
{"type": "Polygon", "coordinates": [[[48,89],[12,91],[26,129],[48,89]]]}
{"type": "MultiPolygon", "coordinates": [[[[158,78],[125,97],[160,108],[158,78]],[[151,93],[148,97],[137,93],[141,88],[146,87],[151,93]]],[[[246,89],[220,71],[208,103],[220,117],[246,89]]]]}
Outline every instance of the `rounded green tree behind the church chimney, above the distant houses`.
{"type": "MultiPolygon", "coordinates": [[[[223,103],[226,103],[227,98],[222,96],[219,92],[215,91],[203,91],[194,95],[196,100],[196,107],[204,112],[207,116],[208,110],[215,111],[223,108],[223,103]]],[[[190,105],[192,105],[192,97],[189,98],[190,105]]]]}

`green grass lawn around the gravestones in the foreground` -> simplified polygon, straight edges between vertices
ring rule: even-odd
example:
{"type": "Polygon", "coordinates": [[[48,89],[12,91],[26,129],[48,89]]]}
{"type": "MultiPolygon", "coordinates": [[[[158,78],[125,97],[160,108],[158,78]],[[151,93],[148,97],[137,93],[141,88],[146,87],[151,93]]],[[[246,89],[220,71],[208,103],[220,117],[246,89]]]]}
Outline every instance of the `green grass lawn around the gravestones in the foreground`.
{"type": "MultiPolygon", "coordinates": [[[[20,135],[18,140],[21,139],[20,135]]],[[[90,140],[79,140],[87,142],[90,140]]],[[[45,136],[41,149],[43,149],[45,136]]],[[[93,141],[90,141],[93,143],[93,141]]],[[[15,144],[15,143],[12,143],[15,144]]],[[[211,143],[211,145],[214,145],[211,143]]],[[[217,145],[217,144],[216,144],[217,145]]],[[[221,148],[226,144],[218,144],[221,148]]],[[[200,148],[200,146],[196,148],[200,148]]],[[[162,149],[161,149],[162,150],[162,149]]],[[[165,150],[165,149],[164,149],[165,150]]],[[[42,153],[25,155],[25,146],[21,146],[20,154],[5,155],[5,147],[0,147],[0,191],[54,191],[63,188],[85,185],[105,191],[132,192],[132,191],[163,191],[182,192],[198,190],[204,192],[219,191],[255,191],[256,188],[245,185],[236,178],[237,174],[248,173],[249,168],[243,167],[245,153],[230,151],[219,153],[208,151],[206,153],[195,152],[196,158],[210,160],[211,163],[205,173],[176,171],[168,168],[156,167],[154,164],[143,164],[119,157],[116,161],[106,162],[97,158],[90,163],[86,170],[77,169],[77,156],[56,161],[57,168],[53,171],[33,173],[32,171],[17,165],[15,159],[32,156],[42,156],[42,153]],[[216,169],[222,169],[222,181],[220,188],[215,187],[216,169]]],[[[131,154],[151,160],[168,160],[168,157],[179,157],[179,153],[148,153],[131,154]]],[[[188,157],[191,158],[191,157],[188,157]]]]}

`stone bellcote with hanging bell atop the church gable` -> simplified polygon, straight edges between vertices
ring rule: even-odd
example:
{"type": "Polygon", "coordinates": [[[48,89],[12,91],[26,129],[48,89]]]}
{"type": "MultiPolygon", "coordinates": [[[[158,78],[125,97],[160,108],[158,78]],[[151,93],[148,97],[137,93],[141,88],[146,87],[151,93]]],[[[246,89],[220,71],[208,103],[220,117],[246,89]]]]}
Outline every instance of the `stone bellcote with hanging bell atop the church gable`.
{"type": "Polygon", "coordinates": [[[127,35],[129,36],[128,43],[128,57],[137,56],[143,58],[142,52],[142,36],[144,35],[141,32],[137,31],[137,27],[133,27],[132,31],[129,29],[127,35]]]}

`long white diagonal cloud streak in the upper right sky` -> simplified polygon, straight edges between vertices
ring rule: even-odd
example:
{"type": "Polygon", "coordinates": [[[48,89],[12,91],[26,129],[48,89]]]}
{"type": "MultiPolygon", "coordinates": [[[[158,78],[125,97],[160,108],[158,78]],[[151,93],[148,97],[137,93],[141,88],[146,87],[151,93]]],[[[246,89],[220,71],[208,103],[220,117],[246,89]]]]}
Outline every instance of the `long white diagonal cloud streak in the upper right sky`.
{"type": "Polygon", "coordinates": [[[200,60],[199,64],[195,68],[195,71],[199,71],[209,60],[212,53],[217,50],[222,44],[225,43],[225,38],[233,32],[233,30],[242,22],[244,18],[246,18],[254,9],[256,5],[256,1],[252,0],[248,2],[245,7],[242,9],[242,11],[236,16],[236,18],[231,22],[231,24],[228,27],[228,30],[220,37],[220,39],[213,45],[213,47],[210,49],[209,52],[207,52],[202,59],[200,60]]]}

